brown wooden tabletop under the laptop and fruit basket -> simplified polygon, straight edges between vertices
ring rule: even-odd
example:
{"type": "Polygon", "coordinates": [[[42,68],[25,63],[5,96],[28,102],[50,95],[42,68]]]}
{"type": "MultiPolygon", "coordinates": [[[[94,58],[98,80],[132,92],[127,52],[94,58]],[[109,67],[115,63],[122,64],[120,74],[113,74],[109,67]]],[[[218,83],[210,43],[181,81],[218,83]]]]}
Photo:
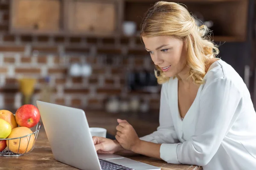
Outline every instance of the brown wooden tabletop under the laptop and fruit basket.
{"type": "MultiPolygon", "coordinates": [[[[150,131],[154,131],[158,126],[158,123],[151,122],[150,119],[140,119],[137,116],[125,116],[125,115],[109,115],[102,112],[88,112],[86,113],[87,120],[90,127],[104,127],[108,130],[108,133],[114,135],[116,133],[116,117],[127,118],[135,129],[140,131],[140,135],[145,135],[150,131]],[[99,119],[99,117],[101,119],[99,119]],[[145,130],[145,131],[144,131],[145,130]]],[[[136,161],[141,161],[147,164],[151,164],[157,167],[161,167],[161,170],[199,170],[198,166],[184,165],[184,164],[168,164],[165,161],[159,159],[153,159],[146,156],[131,156],[123,155],[136,161]]],[[[30,153],[26,153],[19,157],[0,157],[0,169],[3,170],[73,170],[76,169],[67,164],[63,164],[54,159],[52,150],[49,145],[44,127],[41,128],[38,134],[35,147],[30,153]]]]}

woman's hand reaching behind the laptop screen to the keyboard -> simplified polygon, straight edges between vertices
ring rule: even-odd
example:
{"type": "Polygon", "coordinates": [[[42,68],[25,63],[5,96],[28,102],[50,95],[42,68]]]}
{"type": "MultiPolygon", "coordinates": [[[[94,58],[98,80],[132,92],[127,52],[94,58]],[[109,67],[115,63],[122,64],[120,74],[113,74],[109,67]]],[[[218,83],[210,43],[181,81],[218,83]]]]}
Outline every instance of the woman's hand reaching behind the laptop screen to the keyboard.
{"type": "Polygon", "coordinates": [[[93,143],[97,153],[113,154],[122,150],[122,146],[116,141],[99,136],[93,136],[93,143]]]}

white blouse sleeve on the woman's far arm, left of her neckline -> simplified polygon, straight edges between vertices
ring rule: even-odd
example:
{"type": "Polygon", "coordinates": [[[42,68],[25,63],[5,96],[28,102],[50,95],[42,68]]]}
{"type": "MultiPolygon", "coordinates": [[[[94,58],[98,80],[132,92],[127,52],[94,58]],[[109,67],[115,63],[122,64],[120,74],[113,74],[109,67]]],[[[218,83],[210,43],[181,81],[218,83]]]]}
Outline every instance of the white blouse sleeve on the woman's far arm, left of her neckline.
{"type": "Polygon", "coordinates": [[[174,129],[172,122],[172,115],[170,113],[170,108],[168,105],[167,89],[166,84],[162,85],[160,94],[160,115],[159,115],[159,127],[157,131],[143,136],[140,139],[148,142],[154,143],[178,143],[177,134],[174,129]]]}

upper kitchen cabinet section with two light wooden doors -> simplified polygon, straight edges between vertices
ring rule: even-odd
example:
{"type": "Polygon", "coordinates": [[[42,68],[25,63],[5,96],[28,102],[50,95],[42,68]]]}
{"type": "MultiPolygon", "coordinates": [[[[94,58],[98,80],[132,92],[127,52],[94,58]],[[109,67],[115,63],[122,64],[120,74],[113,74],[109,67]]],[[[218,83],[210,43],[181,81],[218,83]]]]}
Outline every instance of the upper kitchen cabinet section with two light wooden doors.
{"type": "Polygon", "coordinates": [[[107,35],[121,27],[121,0],[12,0],[12,34],[107,35]]]}

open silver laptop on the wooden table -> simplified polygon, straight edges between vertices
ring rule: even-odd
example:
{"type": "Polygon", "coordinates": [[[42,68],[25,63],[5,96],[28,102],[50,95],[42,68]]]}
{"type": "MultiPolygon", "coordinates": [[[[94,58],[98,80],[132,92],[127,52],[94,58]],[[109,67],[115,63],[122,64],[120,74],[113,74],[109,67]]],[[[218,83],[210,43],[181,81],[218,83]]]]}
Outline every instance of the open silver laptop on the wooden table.
{"type": "Polygon", "coordinates": [[[83,110],[36,101],[57,161],[81,170],[160,170],[116,154],[97,154],[83,110]]]}

